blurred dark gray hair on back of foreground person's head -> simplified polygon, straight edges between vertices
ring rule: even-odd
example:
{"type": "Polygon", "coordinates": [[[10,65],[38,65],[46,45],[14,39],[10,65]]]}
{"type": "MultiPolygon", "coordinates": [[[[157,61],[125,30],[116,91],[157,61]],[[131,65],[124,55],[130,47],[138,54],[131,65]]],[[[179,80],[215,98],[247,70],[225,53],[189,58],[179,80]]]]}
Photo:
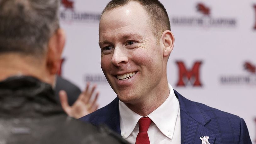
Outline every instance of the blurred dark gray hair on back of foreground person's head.
{"type": "Polygon", "coordinates": [[[42,56],[58,29],[58,0],[0,0],[0,54],[42,56]]]}

